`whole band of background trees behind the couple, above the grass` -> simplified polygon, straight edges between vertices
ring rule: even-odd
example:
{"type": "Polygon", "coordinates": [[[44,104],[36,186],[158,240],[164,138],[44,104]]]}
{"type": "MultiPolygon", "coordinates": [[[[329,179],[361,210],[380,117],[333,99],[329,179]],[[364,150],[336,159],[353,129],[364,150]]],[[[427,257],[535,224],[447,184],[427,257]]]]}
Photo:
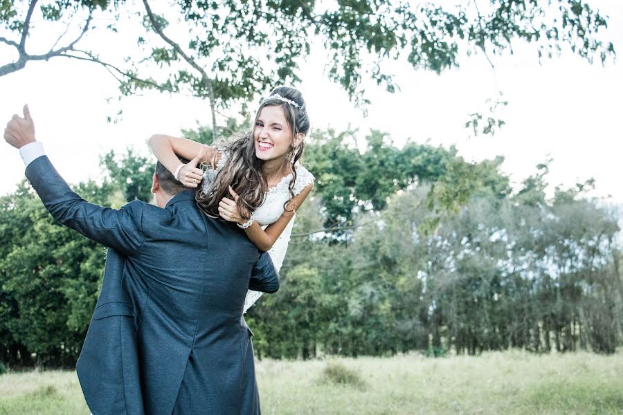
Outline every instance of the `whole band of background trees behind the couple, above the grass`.
{"type": "MultiPolygon", "coordinates": [[[[184,135],[212,141],[209,129],[184,135]]],[[[297,215],[282,287],[246,316],[260,357],[613,353],[621,344],[618,216],[584,196],[592,183],[548,199],[546,165],[512,189],[502,158],[399,149],[379,131],[367,143],[361,154],[353,131],[329,130],[307,145],[316,186],[297,215]]],[[[131,150],[106,154],[103,181],[76,190],[114,207],[148,200],[152,163],[131,150]]],[[[0,230],[0,361],[71,367],[105,248],[55,223],[27,183],[0,199],[0,230]]]]}

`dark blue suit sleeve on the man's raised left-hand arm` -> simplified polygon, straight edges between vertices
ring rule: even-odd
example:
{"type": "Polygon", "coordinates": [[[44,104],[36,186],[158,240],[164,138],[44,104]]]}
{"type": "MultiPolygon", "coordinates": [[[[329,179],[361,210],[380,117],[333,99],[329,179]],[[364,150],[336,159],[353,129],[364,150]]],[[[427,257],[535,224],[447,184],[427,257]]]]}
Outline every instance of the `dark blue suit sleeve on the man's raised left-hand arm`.
{"type": "Polygon", "coordinates": [[[145,241],[142,202],[134,201],[116,210],[84,201],[65,183],[47,156],[30,163],[26,177],[48,212],[68,228],[124,255],[132,255],[145,241]]]}

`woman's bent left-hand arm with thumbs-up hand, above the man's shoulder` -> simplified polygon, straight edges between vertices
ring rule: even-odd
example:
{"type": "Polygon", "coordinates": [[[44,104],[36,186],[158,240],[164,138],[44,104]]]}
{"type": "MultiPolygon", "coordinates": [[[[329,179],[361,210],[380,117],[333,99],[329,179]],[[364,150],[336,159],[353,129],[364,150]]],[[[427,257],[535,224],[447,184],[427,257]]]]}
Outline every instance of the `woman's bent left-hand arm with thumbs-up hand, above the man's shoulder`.
{"type": "MultiPolygon", "coordinates": [[[[188,138],[167,136],[166,134],[154,134],[147,140],[147,144],[150,146],[154,156],[156,156],[159,162],[172,174],[175,174],[175,170],[181,163],[178,156],[193,160],[202,149],[205,149],[206,154],[204,154],[199,161],[209,162],[217,152],[217,149],[214,147],[208,147],[197,141],[188,140],[188,138]]],[[[193,163],[192,165],[189,163],[185,167],[182,167],[178,172],[179,180],[181,181],[182,176],[188,176],[190,180],[196,179],[197,181],[201,181],[203,171],[195,168],[195,166],[197,166],[197,163],[193,163]]]]}

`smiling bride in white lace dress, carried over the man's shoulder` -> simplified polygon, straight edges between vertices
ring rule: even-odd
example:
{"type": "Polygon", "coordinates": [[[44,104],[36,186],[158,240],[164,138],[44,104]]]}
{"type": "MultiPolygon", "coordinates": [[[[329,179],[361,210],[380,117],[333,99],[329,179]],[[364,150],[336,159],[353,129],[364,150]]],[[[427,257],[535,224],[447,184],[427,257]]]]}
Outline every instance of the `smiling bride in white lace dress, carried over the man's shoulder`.
{"type": "MultiPolygon", "coordinates": [[[[309,132],[300,92],[279,87],[260,104],[253,128],[228,145],[208,147],[173,136],[154,135],[149,145],[158,160],[184,185],[198,187],[201,210],[237,223],[279,271],[296,210],[307,199],[314,176],[298,163],[309,132]],[[180,163],[179,158],[192,159],[180,163]],[[202,163],[208,168],[197,168],[202,163]]],[[[244,312],[262,295],[249,291],[244,312]]]]}

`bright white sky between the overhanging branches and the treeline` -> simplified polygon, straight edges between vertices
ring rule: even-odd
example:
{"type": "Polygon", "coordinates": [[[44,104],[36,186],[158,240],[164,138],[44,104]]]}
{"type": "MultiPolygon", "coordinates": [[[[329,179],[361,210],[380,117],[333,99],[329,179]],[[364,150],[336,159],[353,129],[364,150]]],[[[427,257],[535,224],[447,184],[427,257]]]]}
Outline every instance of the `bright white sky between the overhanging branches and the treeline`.
{"type": "MultiPolygon", "coordinates": [[[[593,0],[590,4],[608,15],[605,36],[615,50],[623,50],[623,2],[593,0]]],[[[43,25],[38,30],[33,30],[33,39],[56,39],[60,34],[43,25]]],[[[5,35],[0,31],[0,36],[5,35]]],[[[102,45],[107,53],[120,47],[102,45]]],[[[0,46],[2,64],[7,50],[0,46]]],[[[400,91],[391,94],[365,84],[365,96],[372,101],[365,115],[323,76],[327,56],[316,43],[301,65],[303,82],[296,86],[307,101],[312,128],[350,126],[361,137],[379,129],[397,145],[408,138],[456,145],[467,160],[504,156],[503,172],[515,184],[552,158],[550,192],[556,185],[570,187],[595,178],[592,196],[623,205],[622,64],[591,65],[566,49],[561,57],[545,58],[539,64],[536,48],[518,43],[513,55],[489,57],[494,69],[478,54],[461,59],[460,68],[441,75],[415,71],[406,63],[389,64],[400,91]],[[498,91],[509,102],[499,114],[505,126],[494,136],[473,136],[464,128],[469,113],[484,111],[485,100],[498,91]]],[[[37,140],[44,142],[48,156],[70,183],[98,179],[99,157],[111,149],[123,152],[131,145],[147,154],[146,140],[154,133],[179,136],[181,129],[211,123],[207,102],[152,92],[123,98],[123,118],[107,123],[107,116],[118,109],[107,103],[116,89],[114,78],[95,64],[63,58],[30,62],[23,70],[0,77],[0,118],[8,122],[13,113],[21,116],[27,102],[37,140]]],[[[8,145],[1,147],[0,161],[0,194],[6,194],[24,178],[24,166],[18,151],[8,145]]]]}

